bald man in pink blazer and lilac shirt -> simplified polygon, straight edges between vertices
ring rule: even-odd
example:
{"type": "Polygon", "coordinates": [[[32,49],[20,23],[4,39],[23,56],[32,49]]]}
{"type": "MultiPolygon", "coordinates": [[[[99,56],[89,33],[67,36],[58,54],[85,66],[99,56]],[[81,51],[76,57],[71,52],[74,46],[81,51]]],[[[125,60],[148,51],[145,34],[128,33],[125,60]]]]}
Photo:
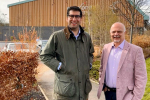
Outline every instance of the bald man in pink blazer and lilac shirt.
{"type": "Polygon", "coordinates": [[[125,40],[126,28],[120,22],[110,28],[113,42],[106,44],[101,56],[98,98],[106,100],[141,100],[147,73],[142,48],[125,40]]]}

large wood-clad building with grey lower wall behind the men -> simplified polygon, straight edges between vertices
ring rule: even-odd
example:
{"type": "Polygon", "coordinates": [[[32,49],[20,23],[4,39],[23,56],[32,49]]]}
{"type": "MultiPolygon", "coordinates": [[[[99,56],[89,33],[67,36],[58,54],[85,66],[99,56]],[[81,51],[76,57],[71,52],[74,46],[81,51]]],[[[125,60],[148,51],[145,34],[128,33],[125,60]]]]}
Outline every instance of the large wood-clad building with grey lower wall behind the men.
{"type": "MultiPolygon", "coordinates": [[[[130,29],[130,23],[126,17],[121,16],[124,13],[127,16],[131,16],[122,3],[126,0],[25,0],[16,3],[9,4],[9,25],[12,29],[16,27],[32,27],[34,26],[38,31],[38,34],[43,39],[47,39],[54,30],[62,29],[67,26],[66,23],[66,10],[69,6],[79,6],[82,11],[87,11],[87,8],[91,5],[99,5],[112,9],[114,13],[118,15],[120,21],[130,29]],[[44,31],[47,30],[47,31],[44,31]],[[48,33],[48,34],[47,34],[48,33]],[[42,34],[42,35],[41,35],[42,34]],[[46,34],[46,35],[44,35],[46,34]]],[[[132,5],[131,0],[128,3],[132,5]]],[[[139,8],[136,9],[138,15],[136,16],[135,28],[144,30],[144,27],[148,26],[147,22],[149,17],[142,12],[139,8]]],[[[83,18],[84,19],[84,18],[83,18]]],[[[84,21],[82,23],[84,26],[84,21]]],[[[10,30],[12,30],[10,28],[10,30]]],[[[18,30],[21,30],[19,28],[18,30]]],[[[10,31],[9,30],[9,31],[10,31]]],[[[17,32],[18,32],[17,30],[17,32]]],[[[11,31],[10,31],[11,32],[11,31]]],[[[9,35],[11,33],[9,32],[9,35]]]]}

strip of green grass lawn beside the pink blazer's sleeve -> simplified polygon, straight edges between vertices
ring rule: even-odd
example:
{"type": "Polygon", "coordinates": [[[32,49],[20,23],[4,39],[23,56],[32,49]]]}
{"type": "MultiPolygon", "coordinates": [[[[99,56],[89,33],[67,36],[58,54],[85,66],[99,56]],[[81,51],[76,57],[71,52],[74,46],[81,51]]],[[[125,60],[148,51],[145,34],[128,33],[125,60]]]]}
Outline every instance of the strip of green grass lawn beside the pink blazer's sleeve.
{"type": "Polygon", "coordinates": [[[146,60],[147,68],[147,84],[145,88],[145,93],[142,100],[150,100],[150,58],[146,60]]]}

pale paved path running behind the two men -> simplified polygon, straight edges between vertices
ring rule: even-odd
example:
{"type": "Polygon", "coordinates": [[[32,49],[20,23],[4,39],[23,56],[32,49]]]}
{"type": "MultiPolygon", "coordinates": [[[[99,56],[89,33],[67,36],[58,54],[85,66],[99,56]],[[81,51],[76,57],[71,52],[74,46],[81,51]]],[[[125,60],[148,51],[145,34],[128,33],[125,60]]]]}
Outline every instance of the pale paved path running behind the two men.
{"type": "MultiPolygon", "coordinates": [[[[36,79],[43,92],[46,100],[53,100],[53,82],[54,82],[54,72],[45,66],[42,62],[38,66],[38,75],[36,79]]],[[[89,94],[89,100],[98,100],[97,98],[98,84],[92,81],[92,90],[89,94]]],[[[105,100],[104,93],[99,100],[105,100]]]]}

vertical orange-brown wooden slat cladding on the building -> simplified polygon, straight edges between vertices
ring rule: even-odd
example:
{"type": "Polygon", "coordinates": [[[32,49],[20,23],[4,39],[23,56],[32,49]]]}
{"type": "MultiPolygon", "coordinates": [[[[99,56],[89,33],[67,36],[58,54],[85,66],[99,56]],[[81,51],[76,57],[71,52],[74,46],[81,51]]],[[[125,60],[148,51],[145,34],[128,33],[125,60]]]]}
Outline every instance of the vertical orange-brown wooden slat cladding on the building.
{"type": "MultiPolygon", "coordinates": [[[[116,1],[117,0],[36,0],[18,4],[9,7],[10,26],[67,26],[67,7],[82,6],[81,8],[84,12],[88,6],[99,5],[103,10],[103,15],[106,13],[104,9],[106,9],[106,7],[110,9],[110,5],[116,1]]],[[[118,3],[118,7],[127,14],[121,4],[118,3]]],[[[121,16],[119,19],[125,26],[130,27],[126,19],[121,16]]],[[[84,17],[82,26],[84,26],[84,17]]],[[[144,26],[142,15],[137,16],[135,26],[144,26]]]]}

